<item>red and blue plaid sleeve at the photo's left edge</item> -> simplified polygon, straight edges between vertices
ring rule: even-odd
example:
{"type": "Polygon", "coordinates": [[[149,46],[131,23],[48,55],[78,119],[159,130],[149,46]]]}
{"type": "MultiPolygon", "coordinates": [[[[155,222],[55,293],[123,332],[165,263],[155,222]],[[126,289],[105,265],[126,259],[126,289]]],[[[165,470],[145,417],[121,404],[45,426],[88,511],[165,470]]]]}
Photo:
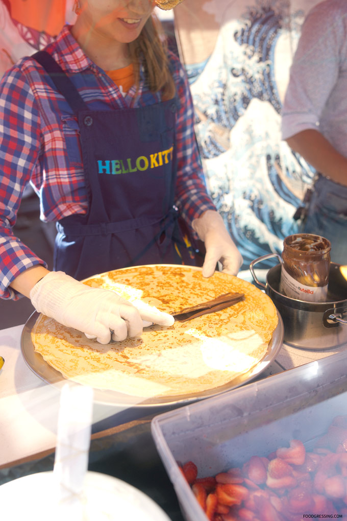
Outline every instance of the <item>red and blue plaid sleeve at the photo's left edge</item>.
{"type": "Polygon", "coordinates": [[[11,230],[40,151],[38,118],[28,83],[18,68],[11,68],[0,83],[0,297],[3,299],[19,299],[21,295],[9,287],[10,282],[25,269],[45,265],[11,230]]]}

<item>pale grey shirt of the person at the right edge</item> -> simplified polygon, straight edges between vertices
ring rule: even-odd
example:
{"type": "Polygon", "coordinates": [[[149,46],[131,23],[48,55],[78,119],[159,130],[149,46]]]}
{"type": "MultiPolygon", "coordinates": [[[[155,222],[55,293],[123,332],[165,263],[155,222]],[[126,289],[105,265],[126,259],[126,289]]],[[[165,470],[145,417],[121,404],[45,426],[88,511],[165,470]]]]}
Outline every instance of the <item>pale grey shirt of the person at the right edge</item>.
{"type": "Polygon", "coordinates": [[[321,132],[347,157],[347,2],[326,0],[309,11],[290,69],[282,138],[321,132]]]}

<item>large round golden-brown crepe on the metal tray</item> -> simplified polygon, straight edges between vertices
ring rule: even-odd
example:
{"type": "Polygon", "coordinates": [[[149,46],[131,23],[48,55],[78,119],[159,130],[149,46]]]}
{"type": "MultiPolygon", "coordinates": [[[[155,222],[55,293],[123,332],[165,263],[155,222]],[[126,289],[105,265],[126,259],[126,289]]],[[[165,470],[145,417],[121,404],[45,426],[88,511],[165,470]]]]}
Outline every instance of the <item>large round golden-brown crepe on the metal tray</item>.
{"type": "Polygon", "coordinates": [[[212,300],[227,292],[242,301],[222,311],[171,327],[151,326],[141,336],[99,344],[83,333],[41,315],[32,330],[35,351],[71,380],[133,396],[172,396],[222,386],[246,373],[265,356],[277,325],[267,295],[237,277],[200,268],[138,266],[84,281],[145,302],[166,313],[212,300]]]}

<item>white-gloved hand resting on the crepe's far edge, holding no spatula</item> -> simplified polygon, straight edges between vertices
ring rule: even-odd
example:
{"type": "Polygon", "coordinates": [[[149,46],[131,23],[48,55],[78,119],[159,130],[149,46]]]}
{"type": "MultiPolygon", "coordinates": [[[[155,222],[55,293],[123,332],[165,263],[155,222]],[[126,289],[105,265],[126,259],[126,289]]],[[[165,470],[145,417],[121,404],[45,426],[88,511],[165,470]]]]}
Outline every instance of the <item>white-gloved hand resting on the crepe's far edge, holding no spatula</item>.
{"type": "Polygon", "coordinates": [[[221,215],[214,210],[207,210],[201,217],[192,221],[192,228],[206,248],[202,266],[203,277],[213,275],[218,261],[221,261],[225,273],[237,275],[243,259],[225,228],[221,215]]]}

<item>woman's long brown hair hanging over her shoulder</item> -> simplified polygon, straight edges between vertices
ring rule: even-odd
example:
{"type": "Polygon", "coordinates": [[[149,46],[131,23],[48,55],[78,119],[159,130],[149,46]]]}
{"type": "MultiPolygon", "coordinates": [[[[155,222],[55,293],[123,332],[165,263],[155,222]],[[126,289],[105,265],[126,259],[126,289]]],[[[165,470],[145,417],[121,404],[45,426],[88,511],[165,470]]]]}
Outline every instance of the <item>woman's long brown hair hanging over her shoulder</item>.
{"type": "Polygon", "coordinates": [[[176,87],[169,67],[164,32],[154,16],[148,18],[139,37],[130,44],[130,56],[134,64],[135,84],[139,85],[142,63],[150,91],[161,91],[163,100],[171,100],[176,87]]]}

